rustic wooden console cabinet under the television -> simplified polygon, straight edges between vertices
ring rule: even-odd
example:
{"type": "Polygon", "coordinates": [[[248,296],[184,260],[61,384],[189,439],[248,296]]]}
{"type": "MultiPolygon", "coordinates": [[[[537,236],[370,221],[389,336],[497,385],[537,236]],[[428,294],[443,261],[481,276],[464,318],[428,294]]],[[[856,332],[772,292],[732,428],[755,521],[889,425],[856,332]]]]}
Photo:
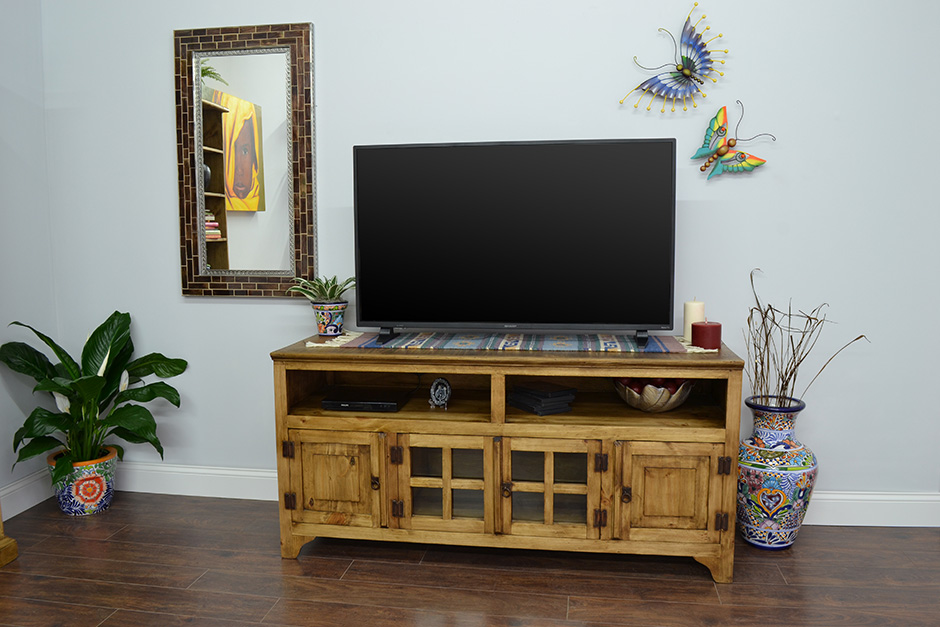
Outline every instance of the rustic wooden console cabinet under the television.
{"type": "MultiPolygon", "coordinates": [[[[312,341],[317,341],[312,338],[312,341]]],[[[281,554],[316,536],[692,557],[730,582],[743,362],[717,353],[308,348],[271,354],[281,554]],[[446,378],[447,408],[429,402],[446,378]],[[666,413],[615,377],[694,379],[666,413]],[[572,411],[507,405],[526,382],[572,411]],[[413,390],[393,413],[326,411],[339,386],[413,390]]]]}

